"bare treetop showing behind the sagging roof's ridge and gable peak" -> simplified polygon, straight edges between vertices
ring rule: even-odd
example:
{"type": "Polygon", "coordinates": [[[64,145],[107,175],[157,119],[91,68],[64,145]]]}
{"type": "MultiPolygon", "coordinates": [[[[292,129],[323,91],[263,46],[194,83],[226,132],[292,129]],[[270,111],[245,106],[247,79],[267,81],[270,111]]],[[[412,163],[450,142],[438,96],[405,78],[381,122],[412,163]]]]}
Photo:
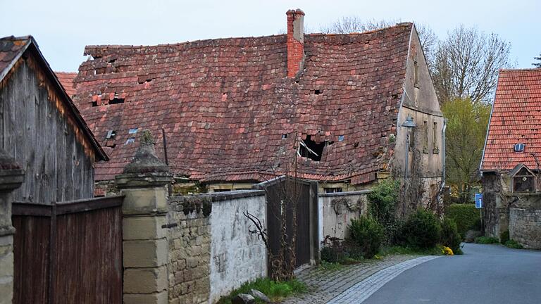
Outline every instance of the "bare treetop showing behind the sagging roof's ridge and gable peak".
{"type": "MultiPolygon", "coordinates": [[[[400,23],[400,20],[362,20],[356,16],[342,17],[329,25],[320,27],[323,34],[349,34],[354,32],[368,32],[371,30],[381,30],[385,27],[392,27],[400,23]]],[[[430,58],[433,49],[437,43],[437,36],[434,31],[424,23],[416,23],[416,30],[421,40],[421,46],[430,65],[430,58]]]]}

